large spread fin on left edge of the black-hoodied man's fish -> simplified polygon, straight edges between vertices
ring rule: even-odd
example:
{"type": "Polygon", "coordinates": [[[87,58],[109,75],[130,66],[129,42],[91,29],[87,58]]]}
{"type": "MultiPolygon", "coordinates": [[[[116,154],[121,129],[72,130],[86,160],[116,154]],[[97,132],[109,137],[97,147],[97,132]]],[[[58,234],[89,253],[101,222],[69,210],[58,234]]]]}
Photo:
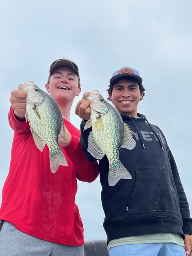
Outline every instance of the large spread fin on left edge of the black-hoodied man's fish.
{"type": "Polygon", "coordinates": [[[92,156],[96,159],[102,159],[104,157],[104,152],[98,147],[96,141],[93,137],[93,133],[90,132],[88,136],[88,148],[87,151],[92,154],[92,156]]]}

